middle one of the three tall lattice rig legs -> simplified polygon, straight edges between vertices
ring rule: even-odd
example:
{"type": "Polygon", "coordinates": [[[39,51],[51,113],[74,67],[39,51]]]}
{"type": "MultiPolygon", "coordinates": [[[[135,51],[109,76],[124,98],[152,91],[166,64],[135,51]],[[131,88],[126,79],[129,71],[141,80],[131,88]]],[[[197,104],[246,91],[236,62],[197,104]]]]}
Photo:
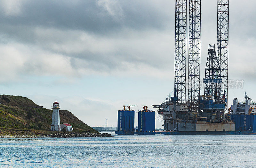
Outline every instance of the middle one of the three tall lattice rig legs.
{"type": "Polygon", "coordinates": [[[189,1],[188,101],[198,99],[200,82],[201,0],[189,1]]]}

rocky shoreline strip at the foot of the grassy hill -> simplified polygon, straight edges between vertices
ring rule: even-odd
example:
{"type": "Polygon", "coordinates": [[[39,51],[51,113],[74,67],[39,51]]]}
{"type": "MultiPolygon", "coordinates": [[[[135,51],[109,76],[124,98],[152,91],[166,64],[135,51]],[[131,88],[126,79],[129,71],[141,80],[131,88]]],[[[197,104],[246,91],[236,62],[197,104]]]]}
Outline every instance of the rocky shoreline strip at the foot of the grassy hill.
{"type": "Polygon", "coordinates": [[[0,138],[85,138],[85,137],[112,137],[110,134],[94,134],[94,133],[57,133],[50,135],[1,135],[0,138]]]}

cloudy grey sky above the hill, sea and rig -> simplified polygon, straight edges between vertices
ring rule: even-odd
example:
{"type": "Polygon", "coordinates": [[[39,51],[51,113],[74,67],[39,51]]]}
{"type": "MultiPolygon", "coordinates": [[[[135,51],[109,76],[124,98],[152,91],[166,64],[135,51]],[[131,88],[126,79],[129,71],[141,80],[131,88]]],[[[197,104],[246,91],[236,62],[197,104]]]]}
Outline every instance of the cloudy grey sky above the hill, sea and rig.
{"type": "MultiPolygon", "coordinates": [[[[244,82],[228,90],[228,107],[244,92],[256,100],[255,7],[229,2],[228,79],[244,82]]],[[[89,126],[116,127],[123,105],[153,109],[173,90],[174,30],[174,0],[1,0],[0,94],[58,101],[89,126]]],[[[201,78],[216,34],[217,0],[203,0],[201,78]]]]}

